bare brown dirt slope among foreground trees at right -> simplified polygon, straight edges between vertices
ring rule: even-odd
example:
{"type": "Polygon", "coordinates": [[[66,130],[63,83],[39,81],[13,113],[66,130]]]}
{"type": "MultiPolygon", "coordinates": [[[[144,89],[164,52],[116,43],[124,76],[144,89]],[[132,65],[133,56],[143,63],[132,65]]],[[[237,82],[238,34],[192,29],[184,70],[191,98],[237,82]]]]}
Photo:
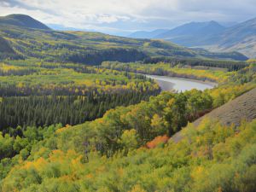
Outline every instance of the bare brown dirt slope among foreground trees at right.
{"type": "MultiPolygon", "coordinates": [[[[218,119],[224,125],[235,124],[240,125],[242,119],[251,121],[256,118],[256,88],[248,91],[247,93],[238,96],[236,99],[227,102],[223,106],[212,110],[200,119],[194,122],[195,127],[200,124],[201,120],[205,117],[210,119],[218,119]]],[[[177,132],[172,137],[174,142],[182,139],[181,132],[177,132]]]]}

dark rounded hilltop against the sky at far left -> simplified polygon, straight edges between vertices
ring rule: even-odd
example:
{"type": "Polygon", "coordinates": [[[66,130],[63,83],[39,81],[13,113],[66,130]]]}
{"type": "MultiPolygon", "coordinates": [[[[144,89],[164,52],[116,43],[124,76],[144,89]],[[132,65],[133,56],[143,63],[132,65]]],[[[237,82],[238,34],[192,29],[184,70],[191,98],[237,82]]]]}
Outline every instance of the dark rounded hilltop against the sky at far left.
{"type": "Polygon", "coordinates": [[[11,26],[20,26],[26,28],[34,28],[34,29],[44,29],[49,30],[48,26],[45,26],[38,20],[33,19],[28,15],[7,15],[0,17],[0,25],[11,25],[11,26]]]}

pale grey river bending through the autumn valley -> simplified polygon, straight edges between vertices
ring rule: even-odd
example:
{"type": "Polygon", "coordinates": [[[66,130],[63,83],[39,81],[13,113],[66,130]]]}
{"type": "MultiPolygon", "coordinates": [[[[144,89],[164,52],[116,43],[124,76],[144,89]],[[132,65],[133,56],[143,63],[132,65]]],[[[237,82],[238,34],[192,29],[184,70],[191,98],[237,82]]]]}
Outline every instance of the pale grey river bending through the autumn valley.
{"type": "Polygon", "coordinates": [[[162,90],[176,90],[178,92],[185,90],[206,90],[212,89],[217,84],[204,82],[195,79],[172,78],[168,76],[146,75],[150,79],[155,79],[162,90]]]}

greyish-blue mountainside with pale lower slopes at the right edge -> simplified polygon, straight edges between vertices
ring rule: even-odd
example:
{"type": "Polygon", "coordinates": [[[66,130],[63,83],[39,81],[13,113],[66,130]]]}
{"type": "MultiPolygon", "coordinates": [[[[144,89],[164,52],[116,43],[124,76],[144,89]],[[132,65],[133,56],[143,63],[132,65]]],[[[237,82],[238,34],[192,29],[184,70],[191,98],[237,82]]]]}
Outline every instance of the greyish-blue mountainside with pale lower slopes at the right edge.
{"type": "Polygon", "coordinates": [[[256,18],[226,28],[223,32],[207,39],[209,50],[239,51],[256,58],[256,18]]]}

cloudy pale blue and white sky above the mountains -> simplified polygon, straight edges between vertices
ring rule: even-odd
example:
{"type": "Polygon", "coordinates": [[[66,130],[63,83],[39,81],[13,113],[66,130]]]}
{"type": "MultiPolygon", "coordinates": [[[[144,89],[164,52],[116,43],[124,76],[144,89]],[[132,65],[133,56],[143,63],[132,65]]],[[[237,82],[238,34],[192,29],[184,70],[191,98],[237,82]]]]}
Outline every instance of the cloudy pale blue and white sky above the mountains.
{"type": "Polygon", "coordinates": [[[128,34],[191,21],[256,17],[256,0],[0,0],[0,15],[25,14],[51,27],[128,34]]]}

